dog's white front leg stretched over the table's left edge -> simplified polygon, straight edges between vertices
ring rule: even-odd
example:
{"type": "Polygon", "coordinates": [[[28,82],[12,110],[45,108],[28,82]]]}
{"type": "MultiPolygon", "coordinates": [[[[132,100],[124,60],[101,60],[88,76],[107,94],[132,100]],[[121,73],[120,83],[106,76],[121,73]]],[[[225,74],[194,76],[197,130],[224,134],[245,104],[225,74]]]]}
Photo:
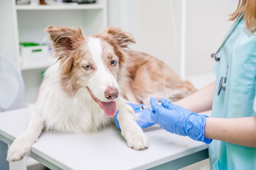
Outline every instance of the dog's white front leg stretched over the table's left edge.
{"type": "MultiPolygon", "coordinates": [[[[33,108],[31,108],[33,110],[33,108]]],[[[24,156],[29,155],[31,145],[38,141],[38,137],[42,132],[44,123],[41,117],[32,112],[31,119],[26,130],[20,134],[11,144],[8,154],[8,161],[18,161],[24,156]]]]}

